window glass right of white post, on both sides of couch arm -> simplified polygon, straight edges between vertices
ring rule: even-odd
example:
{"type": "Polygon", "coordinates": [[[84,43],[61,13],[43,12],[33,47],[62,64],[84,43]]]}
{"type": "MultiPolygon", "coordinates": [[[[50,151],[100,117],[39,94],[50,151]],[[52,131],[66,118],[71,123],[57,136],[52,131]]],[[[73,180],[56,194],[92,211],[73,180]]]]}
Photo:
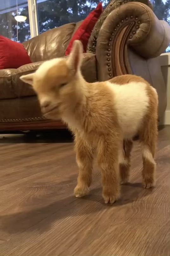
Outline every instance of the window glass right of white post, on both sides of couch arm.
{"type": "MultiPolygon", "coordinates": [[[[110,0],[101,2],[103,7],[106,7],[110,0]]],[[[170,0],[151,0],[151,2],[156,16],[170,24],[170,0]]],[[[98,3],[98,0],[37,0],[39,33],[85,19],[98,3]]],[[[170,52],[170,45],[167,52],[170,52]]]]}

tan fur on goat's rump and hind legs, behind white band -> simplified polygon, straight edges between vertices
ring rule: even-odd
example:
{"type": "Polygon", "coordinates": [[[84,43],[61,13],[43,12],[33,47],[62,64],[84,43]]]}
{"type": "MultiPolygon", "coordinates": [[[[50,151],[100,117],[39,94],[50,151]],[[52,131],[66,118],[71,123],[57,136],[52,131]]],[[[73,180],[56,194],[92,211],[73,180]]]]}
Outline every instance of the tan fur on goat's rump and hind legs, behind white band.
{"type": "MultiPolygon", "coordinates": [[[[116,83],[116,84],[127,84],[130,82],[143,82],[142,77],[138,77],[135,75],[123,75],[118,76],[110,79],[110,82],[116,83]]],[[[143,125],[141,126],[141,129],[139,130],[138,134],[140,136],[142,146],[145,146],[148,148],[148,151],[151,152],[152,157],[154,159],[155,156],[155,150],[156,150],[156,142],[157,142],[157,136],[158,136],[158,98],[157,93],[153,90],[153,88],[150,86],[150,84],[145,81],[147,84],[147,94],[149,96],[149,108],[147,111],[147,114],[145,115],[143,119],[143,125]]],[[[128,160],[128,164],[120,164],[120,176],[121,176],[121,183],[126,183],[129,177],[129,170],[130,170],[130,152],[132,148],[132,142],[131,141],[124,141],[125,145],[125,152],[126,157],[125,159],[128,160]]],[[[149,159],[144,157],[143,154],[143,184],[144,187],[151,187],[155,184],[155,163],[153,161],[150,161],[149,159]]]]}

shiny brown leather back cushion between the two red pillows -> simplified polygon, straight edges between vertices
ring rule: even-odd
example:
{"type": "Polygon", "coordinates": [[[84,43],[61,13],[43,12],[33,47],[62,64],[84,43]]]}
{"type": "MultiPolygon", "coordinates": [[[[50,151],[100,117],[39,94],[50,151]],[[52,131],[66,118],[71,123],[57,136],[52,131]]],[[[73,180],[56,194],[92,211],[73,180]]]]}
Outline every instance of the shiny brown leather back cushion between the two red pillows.
{"type": "Polygon", "coordinates": [[[76,23],[66,24],[24,42],[23,45],[32,62],[63,57],[75,26],[76,23]]]}

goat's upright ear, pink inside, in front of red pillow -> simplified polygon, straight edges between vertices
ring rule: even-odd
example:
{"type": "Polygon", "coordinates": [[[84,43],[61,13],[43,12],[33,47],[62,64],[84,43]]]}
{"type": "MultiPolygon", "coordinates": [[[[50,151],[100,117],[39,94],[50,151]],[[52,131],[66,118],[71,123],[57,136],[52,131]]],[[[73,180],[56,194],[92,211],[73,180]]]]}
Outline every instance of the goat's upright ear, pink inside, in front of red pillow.
{"type": "Polygon", "coordinates": [[[70,69],[75,70],[76,72],[80,70],[82,64],[82,53],[83,53],[83,46],[79,40],[75,40],[73,42],[72,50],[69,54],[67,59],[67,64],[70,69]]]}

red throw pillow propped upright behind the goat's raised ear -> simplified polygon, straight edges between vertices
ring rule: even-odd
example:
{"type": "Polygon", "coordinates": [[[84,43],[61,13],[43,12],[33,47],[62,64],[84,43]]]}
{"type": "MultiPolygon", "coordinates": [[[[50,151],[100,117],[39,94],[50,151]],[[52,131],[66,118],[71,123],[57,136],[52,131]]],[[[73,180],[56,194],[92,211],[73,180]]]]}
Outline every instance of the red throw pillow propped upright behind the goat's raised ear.
{"type": "Polygon", "coordinates": [[[90,12],[90,14],[85,18],[85,20],[82,22],[80,27],[78,27],[78,29],[76,30],[74,36],[72,37],[69,43],[65,52],[66,56],[70,54],[74,40],[80,40],[83,44],[84,52],[86,52],[88,39],[102,11],[103,11],[102,3],[99,3],[96,9],[90,12]]]}

